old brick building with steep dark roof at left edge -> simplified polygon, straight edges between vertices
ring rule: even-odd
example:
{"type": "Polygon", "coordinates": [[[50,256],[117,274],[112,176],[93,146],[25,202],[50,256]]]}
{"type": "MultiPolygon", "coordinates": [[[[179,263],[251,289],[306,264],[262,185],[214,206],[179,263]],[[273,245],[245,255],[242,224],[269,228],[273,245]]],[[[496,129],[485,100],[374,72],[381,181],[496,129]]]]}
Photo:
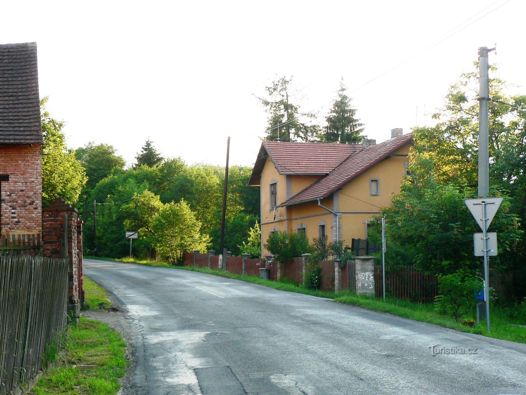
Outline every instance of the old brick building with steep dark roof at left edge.
{"type": "Polygon", "coordinates": [[[36,43],[0,45],[0,231],[42,233],[36,43]]]}

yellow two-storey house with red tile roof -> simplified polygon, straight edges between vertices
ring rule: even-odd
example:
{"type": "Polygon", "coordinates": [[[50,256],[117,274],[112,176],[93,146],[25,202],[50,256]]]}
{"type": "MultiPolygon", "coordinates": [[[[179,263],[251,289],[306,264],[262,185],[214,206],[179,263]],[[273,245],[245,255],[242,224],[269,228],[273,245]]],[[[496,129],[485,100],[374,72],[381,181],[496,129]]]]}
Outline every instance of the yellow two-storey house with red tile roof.
{"type": "Polygon", "coordinates": [[[401,129],[380,144],[263,142],[248,182],[260,189],[262,255],[275,231],[366,239],[369,220],[400,191],[412,144],[401,129]]]}

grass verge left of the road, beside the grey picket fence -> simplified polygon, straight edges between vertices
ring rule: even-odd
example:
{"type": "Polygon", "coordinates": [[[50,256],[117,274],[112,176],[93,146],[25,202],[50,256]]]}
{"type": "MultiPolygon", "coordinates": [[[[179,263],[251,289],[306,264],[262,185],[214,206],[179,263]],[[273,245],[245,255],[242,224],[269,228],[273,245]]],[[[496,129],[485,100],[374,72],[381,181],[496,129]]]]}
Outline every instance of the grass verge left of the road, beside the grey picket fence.
{"type": "MultiPolygon", "coordinates": [[[[88,310],[108,310],[108,294],[84,278],[88,310]]],[[[124,376],[126,343],[105,323],[80,318],[71,325],[65,347],[45,361],[48,370],[32,390],[34,395],[114,395],[124,376]]]]}

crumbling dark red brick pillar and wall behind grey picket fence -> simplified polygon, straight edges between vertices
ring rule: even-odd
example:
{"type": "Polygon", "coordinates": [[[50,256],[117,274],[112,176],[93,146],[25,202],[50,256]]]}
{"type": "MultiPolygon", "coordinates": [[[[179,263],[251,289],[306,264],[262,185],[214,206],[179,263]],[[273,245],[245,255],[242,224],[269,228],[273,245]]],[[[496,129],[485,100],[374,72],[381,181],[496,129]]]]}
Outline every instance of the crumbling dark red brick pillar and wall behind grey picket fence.
{"type": "Polygon", "coordinates": [[[82,298],[82,281],[79,282],[82,276],[82,252],[80,252],[82,243],[80,250],[78,245],[79,237],[82,240],[82,228],[79,235],[78,211],[72,205],[67,204],[64,199],[56,199],[43,210],[43,217],[42,255],[69,260],[69,315],[74,323],[78,323],[82,298]],[[65,223],[66,220],[67,223],[65,223]],[[67,229],[66,233],[64,229],[67,229]]]}

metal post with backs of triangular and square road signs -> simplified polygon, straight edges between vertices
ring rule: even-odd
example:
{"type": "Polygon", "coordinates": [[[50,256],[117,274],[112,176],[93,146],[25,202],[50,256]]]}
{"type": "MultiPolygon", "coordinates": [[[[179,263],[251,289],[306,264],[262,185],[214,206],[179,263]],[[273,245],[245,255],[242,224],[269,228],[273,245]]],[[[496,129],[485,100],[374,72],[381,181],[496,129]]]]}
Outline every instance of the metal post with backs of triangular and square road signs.
{"type": "Polygon", "coordinates": [[[482,229],[482,237],[480,233],[473,234],[474,252],[476,256],[484,256],[484,302],[486,303],[486,327],[490,331],[490,293],[489,293],[489,264],[488,257],[490,255],[497,255],[497,233],[488,233],[495,213],[502,203],[502,197],[481,197],[479,199],[466,199],[464,201],[468,206],[473,218],[477,221],[482,229]],[[490,242],[491,236],[491,242],[490,242]],[[480,242],[479,240],[480,239],[480,242]],[[493,248],[490,248],[490,243],[493,248]],[[479,251],[477,251],[479,250],[479,251]],[[479,255],[480,254],[480,255],[479,255]]]}

